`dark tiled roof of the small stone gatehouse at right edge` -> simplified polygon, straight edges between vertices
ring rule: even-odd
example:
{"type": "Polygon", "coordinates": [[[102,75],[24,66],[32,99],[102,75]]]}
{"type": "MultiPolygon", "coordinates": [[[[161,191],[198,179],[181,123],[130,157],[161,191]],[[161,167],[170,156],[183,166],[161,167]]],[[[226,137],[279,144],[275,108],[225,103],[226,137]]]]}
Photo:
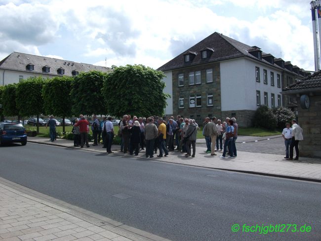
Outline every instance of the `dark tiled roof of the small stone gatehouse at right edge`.
{"type": "Polygon", "coordinates": [[[308,76],[304,80],[297,81],[290,84],[282,90],[282,93],[295,93],[295,92],[304,92],[304,91],[321,91],[321,71],[314,73],[311,76],[308,76]]]}

